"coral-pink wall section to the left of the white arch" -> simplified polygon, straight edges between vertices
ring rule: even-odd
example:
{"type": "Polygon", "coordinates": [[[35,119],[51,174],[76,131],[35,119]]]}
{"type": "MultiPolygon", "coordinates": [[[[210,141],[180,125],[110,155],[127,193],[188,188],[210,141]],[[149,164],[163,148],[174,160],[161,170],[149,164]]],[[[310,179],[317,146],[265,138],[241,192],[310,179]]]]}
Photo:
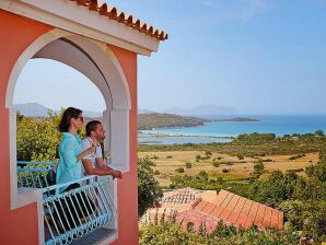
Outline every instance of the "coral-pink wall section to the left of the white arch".
{"type": "Polygon", "coordinates": [[[7,83],[19,56],[53,27],[0,10],[0,244],[37,244],[36,203],[10,210],[9,112],[7,83]]]}

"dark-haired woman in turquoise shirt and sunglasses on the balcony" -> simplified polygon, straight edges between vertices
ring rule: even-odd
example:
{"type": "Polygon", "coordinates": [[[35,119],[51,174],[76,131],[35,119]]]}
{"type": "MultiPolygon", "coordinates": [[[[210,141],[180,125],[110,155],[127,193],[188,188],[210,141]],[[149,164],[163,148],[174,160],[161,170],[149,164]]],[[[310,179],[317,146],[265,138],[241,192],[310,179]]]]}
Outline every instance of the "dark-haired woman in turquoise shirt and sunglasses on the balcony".
{"type": "MultiPolygon", "coordinates": [[[[96,145],[92,145],[82,151],[81,139],[77,132],[82,128],[83,122],[82,110],[69,107],[65,110],[59,125],[62,138],[59,145],[60,160],[57,168],[57,184],[75,182],[60,188],[60,192],[80,187],[78,180],[82,177],[81,160],[93,154],[96,149],[96,145]]],[[[54,215],[58,226],[60,230],[66,229],[66,231],[80,225],[77,221],[84,220],[86,214],[93,213],[95,210],[93,201],[84,192],[73,194],[66,200],[60,198],[55,206],[54,215]]]]}

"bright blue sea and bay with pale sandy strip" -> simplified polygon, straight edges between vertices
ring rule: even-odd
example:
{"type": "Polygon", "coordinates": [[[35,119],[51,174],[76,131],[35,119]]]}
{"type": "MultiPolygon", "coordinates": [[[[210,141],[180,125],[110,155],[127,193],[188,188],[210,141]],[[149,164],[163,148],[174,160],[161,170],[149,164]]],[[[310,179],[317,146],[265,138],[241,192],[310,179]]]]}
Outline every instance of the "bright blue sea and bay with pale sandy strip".
{"type": "Polygon", "coordinates": [[[168,128],[142,130],[145,135],[140,135],[139,141],[145,143],[208,143],[208,142],[229,142],[226,137],[236,137],[241,133],[251,132],[272,132],[277,136],[292,133],[307,133],[316,130],[326,132],[326,114],[318,115],[219,115],[206,116],[209,119],[228,119],[244,117],[257,119],[254,122],[206,122],[201,127],[168,128]],[[148,133],[166,135],[164,137],[149,136],[148,133]],[[220,137],[220,138],[214,138],[220,137]],[[223,138],[225,137],[225,138],[223,138]]]}

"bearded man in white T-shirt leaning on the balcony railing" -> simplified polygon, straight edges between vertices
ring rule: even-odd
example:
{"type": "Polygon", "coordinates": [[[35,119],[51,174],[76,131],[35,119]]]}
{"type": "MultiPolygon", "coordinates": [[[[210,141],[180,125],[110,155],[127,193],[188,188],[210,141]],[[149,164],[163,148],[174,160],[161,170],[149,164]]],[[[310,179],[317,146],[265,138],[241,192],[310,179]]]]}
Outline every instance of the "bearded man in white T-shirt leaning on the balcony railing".
{"type": "Polygon", "coordinates": [[[86,175],[112,175],[115,178],[123,178],[120,171],[115,171],[105,165],[102,155],[102,148],[100,142],[105,139],[105,130],[98,120],[92,120],[86,124],[86,137],[82,140],[82,149],[89,149],[96,145],[94,153],[89,154],[82,159],[84,172],[86,175]]]}

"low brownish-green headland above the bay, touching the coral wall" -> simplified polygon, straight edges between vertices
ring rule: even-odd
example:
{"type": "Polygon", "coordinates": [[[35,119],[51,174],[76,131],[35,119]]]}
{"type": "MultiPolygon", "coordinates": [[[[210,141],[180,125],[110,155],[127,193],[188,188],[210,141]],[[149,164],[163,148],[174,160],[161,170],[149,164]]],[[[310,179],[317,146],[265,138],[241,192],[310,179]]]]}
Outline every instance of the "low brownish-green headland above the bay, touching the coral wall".
{"type": "Polygon", "coordinates": [[[209,120],[174,114],[140,114],[138,115],[138,129],[145,130],[153,128],[197,127],[202,126],[206,121],[209,120]]]}

